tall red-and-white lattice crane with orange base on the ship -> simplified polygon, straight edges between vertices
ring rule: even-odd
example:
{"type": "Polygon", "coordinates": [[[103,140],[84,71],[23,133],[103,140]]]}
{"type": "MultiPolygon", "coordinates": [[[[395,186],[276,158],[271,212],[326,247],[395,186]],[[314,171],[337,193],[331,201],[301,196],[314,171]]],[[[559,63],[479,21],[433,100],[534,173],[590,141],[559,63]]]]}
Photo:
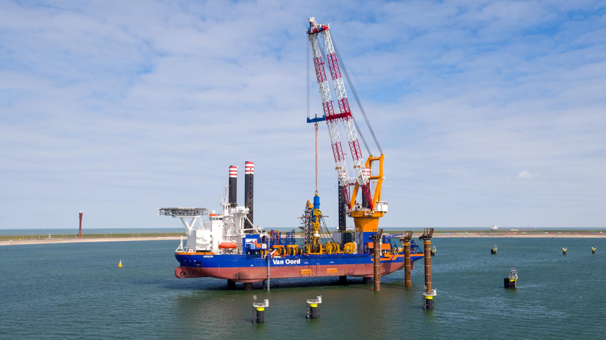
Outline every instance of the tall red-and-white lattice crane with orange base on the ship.
{"type": "MultiPolygon", "coordinates": [[[[368,238],[372,235],[373,230],[378,229],[379,218],[383,217],[387,212],[387,203],[381,201],[381,186],[383,183],[383,160],[384,154],[381,146],[376,140],[376,136],[372,131],[370,123],[364,113],[355,89],[351,84],[347,70],[341,61],[339,67],[339,51],[336,50],[335,44],[330,34],[330,25],[318,24],[315,18],[309,18],[309,29],[307,31],[311,53],[313,57],[313,66],[316,71],[316,79],[318,80],[318,89],[322,99],[322,109],[324,114],[322,117],[317,115],[314,118],[308,117],[308,123],[315,123],[316,128],[318,122],[325,120],[328,127],[328,135],[330,136],[331,148],[335,157],[335,169],[339,177],[339,188],[345,198],[347,204],[347,214],[353,218],[356,227],[356,240],[358,240],[358,251],[366,252],[371,247],[368,238]],[[320,36],[323,44],[321,44],[320,36]],[[322,49],[321,45],[324,45],[322,49]],[[333,100],[330,92],[330,85],[326,76],[324,64],[328,62],[328,69],[333,83],[339,113],[335,113],[333,108],[333,100]],[[342,72],[343,71],[343,72],[342,72]],[[356,101],[360,107],[361,113],[364,115],[365,122],[375,139],[376,146],[379,149],[380,155],[375,157],[371,154],[370,149],[365,143],[364,136],[359,131],[354,117],[351,114],[347,93],[345,91],[345,83],[343,74],[348,80],[348,85],[352,90],[356,101]],[[341,135],[339,126],[345,131],[347,143],[350,149],[350,154],[353,159],[353,176],[350,176],[351,169],[348,169],[345,161],[345,155],[341,143],[341,135]],[[368,149],[368,159],[364,160],[362,149],[358,141],[358,134],[362,137],[362,141],[368,149]],[[378,171],[373,174],[373,162],[378,162],[378,171]],[[353,187],[353,189],[351,189],[353,187]],[[373,190],[374,187],[374,190],[373,190]],[[362,192],[362,203],[356,202],[358,192],[362,192]]],[[[317,131],[317,130],[316,130],[317,131]]],[[[316,170],[317,171],[317,170],[316,170]]],[[[316,192],[317,195],[317,192],[316,192]]]]}

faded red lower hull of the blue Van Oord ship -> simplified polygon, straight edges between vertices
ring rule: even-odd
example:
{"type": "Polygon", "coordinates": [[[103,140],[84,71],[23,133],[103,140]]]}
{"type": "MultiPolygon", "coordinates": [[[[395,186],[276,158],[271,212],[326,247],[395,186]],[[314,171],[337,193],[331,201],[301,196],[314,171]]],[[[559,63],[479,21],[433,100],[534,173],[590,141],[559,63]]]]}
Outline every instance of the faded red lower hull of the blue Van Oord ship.
{"type": "MultiPolygon", "coordinates": [[[[404,262],[389,261],[381,263],[381,276],[402,269],[404,262]]],[[[177,267],[178,278],[212,277],[236,282],[255,283],[267,280],[267,267],[227,267],[201,268],[177,267]]],[[[276,266],[270,267],[270,278],[318,278],[325,276],[359,276],[373,277],[373,264],[340,264],[316,266],[276,266]]]]}

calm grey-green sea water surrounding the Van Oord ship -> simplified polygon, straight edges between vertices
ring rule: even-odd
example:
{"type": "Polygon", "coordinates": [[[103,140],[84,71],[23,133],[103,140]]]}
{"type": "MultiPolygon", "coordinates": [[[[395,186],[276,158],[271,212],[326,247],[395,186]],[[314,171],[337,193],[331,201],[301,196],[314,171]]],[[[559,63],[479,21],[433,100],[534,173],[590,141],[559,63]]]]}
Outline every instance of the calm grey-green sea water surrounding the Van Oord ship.
{"type": "Polygon", "coordinates": [[[419,262],[412,289],[400,270],[382,278],[381,292],[361,278],[345,286],[338,278],[272,280],[270,292],[244,292],[224,280],[175,278],[176,241],[2,246],[0,338],[606,338],[605,239],[433,244],[435,310],[422,310],[419,262]],[[493,244],[498,255],[490,255],[493,244]],[[518,290],[503,288],[510,267],[518,290]],[[250,322],[253,295],[270,300],[265,324],[250,322]],[[320,318],[305,319],[305,299],[316,295],[320,318]]]}

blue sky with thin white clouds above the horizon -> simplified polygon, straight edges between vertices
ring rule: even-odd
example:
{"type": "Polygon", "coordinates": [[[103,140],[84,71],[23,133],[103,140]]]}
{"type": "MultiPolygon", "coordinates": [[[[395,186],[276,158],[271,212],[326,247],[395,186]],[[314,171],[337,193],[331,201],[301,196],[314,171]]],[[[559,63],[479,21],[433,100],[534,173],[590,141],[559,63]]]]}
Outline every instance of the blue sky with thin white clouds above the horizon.
{"type": "Polygon", "coordinates": [[[308,16],[384,149],[382,226],[605,226],[604,2],[0,0],[0,228],[178,227],[155,208],[219,209],[246,160],[255,223],[296,227],[308,16]]]}

